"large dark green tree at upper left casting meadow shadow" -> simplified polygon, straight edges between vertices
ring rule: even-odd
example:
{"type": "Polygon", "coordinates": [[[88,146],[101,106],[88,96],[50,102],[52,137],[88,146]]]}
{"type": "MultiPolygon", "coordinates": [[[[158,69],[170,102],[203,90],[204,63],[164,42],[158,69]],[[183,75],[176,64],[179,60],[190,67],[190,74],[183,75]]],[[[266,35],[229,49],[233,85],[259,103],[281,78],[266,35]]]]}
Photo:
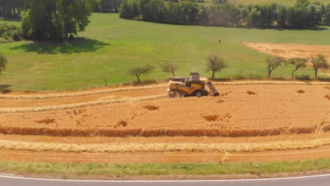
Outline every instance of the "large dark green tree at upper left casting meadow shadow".
{"type": "Polygon", "coordinates": [[[27,39],[64,41],[85,30],[98,0],[26,0],[22,30],[27,39]]]}

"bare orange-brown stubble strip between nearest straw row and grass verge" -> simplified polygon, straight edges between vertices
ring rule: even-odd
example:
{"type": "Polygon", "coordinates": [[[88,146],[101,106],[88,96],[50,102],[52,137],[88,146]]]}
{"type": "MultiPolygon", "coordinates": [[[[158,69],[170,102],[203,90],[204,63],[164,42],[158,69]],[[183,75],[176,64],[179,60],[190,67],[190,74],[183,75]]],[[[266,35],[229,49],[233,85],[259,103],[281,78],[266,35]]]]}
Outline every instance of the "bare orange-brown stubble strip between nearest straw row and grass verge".
{"type": "Polygon", "coordinates": [[[11,161],[44,161],[75,163],[219,163],[269,162],[329,159],[330,146],[293,151],[249,153],[223,152],[128,152],[128,153],[72,153],[58,151],[17,151],[0,149],[0,159],[11,161]]]}

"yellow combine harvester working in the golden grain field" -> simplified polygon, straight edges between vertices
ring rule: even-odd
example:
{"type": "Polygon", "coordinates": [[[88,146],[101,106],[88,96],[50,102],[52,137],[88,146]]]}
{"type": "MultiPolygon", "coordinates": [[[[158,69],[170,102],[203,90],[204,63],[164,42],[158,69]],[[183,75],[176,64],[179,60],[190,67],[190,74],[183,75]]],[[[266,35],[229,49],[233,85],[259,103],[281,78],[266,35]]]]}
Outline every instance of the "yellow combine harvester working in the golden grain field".
{"type": "Polygon", "coordinates": [[[190,73],[190,77],[171,77],[167,92],[169,97],[219,97],[220,95],[212,82],[200,77],[199,73],[190,73]]]}

